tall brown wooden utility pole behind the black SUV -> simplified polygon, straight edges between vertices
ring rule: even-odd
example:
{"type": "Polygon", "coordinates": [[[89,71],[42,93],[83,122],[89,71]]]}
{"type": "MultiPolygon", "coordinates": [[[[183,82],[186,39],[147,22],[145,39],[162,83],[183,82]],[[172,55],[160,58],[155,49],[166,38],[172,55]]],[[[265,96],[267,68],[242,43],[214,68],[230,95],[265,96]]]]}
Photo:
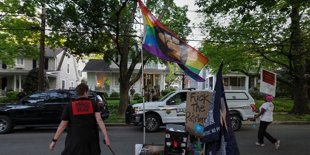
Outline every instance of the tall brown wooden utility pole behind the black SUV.
{"type": "Polygon", "coordinates": [[[44,48],[45,48],[45,0],[42,3],[42,14],[41,14],[41,39],[40,39],[40,62],[39,62],[39,84],[38,91],[43,91],[43,75],[44,75],[44,48]]]}

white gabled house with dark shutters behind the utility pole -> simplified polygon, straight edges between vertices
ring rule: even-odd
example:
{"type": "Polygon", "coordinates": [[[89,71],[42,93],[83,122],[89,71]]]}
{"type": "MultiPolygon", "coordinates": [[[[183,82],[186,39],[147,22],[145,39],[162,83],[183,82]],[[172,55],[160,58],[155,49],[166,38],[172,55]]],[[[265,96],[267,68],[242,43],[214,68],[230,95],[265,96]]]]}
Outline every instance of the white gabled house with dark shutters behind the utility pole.
{"type": "MultiPolygon", "coordinates": [[[[69,89],[76,87],[86,73],[82,72],[85,63],[74,56],[68,58],[61,48],[54,50],[45,48],[44,72],[49,80],[50,89],[69,89]]],[[[0,95],[13,90],[19,92],[28,72],[39,67],[39,61],[16,58],[16,66],[7,68],[0,61],[0,95]]]]}

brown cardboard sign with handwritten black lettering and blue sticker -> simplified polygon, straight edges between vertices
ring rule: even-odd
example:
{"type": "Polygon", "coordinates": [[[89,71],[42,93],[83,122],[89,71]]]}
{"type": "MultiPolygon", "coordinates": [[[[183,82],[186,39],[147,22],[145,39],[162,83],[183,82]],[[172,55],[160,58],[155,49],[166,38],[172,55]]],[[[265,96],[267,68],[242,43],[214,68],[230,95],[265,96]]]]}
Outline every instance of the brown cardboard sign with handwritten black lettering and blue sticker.
{"type": "Polygon", "coordinates": [[[187,92],[185,126],[190,135],[202,137],[213,92],[187,92]]]}

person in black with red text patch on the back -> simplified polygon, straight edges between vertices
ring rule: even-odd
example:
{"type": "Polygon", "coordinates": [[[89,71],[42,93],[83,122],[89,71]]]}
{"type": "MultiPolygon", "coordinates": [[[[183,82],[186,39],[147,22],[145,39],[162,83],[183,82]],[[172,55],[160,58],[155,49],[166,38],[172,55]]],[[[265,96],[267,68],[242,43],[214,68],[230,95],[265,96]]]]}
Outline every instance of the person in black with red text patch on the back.
{"type": "Polygon", "coordinates": [[[49,150],[54,150],[56,141],[66,128],[67,136],[62,155],[100,155],[98,126],[105,136],[106,146],[110,145],[99,107],[96,102],[88,99],[88,92],[86,84],[77,86],[78,99],[68,103],[63,109],[62,122],[49,145],[49,150]]]}

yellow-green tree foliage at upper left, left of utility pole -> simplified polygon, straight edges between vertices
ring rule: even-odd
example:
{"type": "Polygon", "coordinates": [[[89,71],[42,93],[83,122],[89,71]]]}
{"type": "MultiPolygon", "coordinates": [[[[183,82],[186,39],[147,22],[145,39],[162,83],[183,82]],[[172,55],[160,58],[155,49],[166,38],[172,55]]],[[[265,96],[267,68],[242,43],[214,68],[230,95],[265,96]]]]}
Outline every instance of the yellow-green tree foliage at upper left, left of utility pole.
{"type": "Polygon", "coordinates": [[[0,61],[13,68],[16,58],[39,60],[40,22],[36,0],[0,2],[0,61]]]}

